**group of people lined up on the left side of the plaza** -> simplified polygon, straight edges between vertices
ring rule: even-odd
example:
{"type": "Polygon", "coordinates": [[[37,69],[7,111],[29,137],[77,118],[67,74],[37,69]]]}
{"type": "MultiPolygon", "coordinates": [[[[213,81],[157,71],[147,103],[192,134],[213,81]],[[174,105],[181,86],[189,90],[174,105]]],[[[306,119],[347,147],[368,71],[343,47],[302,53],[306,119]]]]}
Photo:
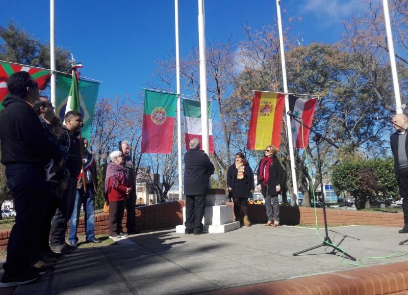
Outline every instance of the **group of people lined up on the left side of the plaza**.
{"type": "MultiPolygon", "coordinates": [[[[87,149],[88,140],[80,136],[81,113],[67,112],[62,124],[52,103],[40,97],[38,85],[28,72],[12,74],[7,87],[9,95],[3,100],[5,109],[0,116],[0,141],[16,219],[0,287],[38,280],[42,273],[53,269],[62,254],[77,249],[81,206],[85,211],[86,242],[101,243],[94,234],[96,165],[87,149]]],[[[127,231],[139,232],[129,143],[120,142],[119,149],[110,155],[112,162],[105,182],[112,238],[127,235],[121,227],[124,207],[134,212],[127,214],[127,231]]]]}

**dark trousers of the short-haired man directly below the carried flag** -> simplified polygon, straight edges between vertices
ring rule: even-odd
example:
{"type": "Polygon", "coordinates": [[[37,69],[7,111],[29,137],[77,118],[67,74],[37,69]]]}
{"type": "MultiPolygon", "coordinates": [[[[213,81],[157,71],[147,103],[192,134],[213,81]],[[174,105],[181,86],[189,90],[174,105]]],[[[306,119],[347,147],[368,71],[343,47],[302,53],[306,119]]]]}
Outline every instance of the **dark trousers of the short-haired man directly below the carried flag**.
{"type": "Polygon", "coordinates": [[[71,218],[73,207],[75,205],[75,195],[77,194],[77,178],[69,177],[67,189],[58,200],[57,210],[51,223],[51,246],[65,244],[65,232],[67,231],[67,222],[71,218]]]}

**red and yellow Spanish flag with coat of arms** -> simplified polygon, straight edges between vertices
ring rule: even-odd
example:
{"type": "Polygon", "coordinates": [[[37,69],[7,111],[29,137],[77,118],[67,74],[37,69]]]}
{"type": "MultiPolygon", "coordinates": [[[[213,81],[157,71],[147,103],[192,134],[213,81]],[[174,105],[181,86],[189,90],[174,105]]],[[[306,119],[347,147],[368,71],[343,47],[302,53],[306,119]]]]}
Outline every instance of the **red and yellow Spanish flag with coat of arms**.
{"type": "Polygon", "coordinates": [[[247,149],[263,150],[268,145],[281,145],[281,129],[285,94],[254,91],[247,149]]]}

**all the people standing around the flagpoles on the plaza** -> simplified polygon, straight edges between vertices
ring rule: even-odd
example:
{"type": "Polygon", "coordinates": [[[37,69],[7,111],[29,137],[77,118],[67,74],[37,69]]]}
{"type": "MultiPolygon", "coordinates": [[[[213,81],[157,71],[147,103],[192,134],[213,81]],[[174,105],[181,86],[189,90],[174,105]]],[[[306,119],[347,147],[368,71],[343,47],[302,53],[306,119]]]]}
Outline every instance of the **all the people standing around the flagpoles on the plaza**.
{"type": "MultiPolygon", "coordinates": [[[[8,241],[7,258],[0,287],[33,282],[40,273],[53,267],[61,254],[78,247],[77,228],[80,208],[85,211],[87,243],[101,243],[94,234],[94,202],[97,191],[96,165],[88,151],[88,140],[80,137],[82,115],[65,114],[64,124],[55,116],[54,107],[39,96],[35,80],[24,71],[8,80],[9,95],[3,100],[0,116],[2,163],[6,166],[7,186],[16,210],[15,224],[8,241]],[[40,212],[40,213],[39,213],[40,212]],[[70,222],[66,242],[67,223],[70,222]],[[50,238],[49,238],[50,237],[50,238]]],[[[403,198],[405,226],[408,233],[408,120],[403,114],[393,118],[396,132],[391,136],[395,173],[403,198]]],[[[206,194],[214,165],[200,150],[196,138],[184,155],[184,193],[186,195],[185,234],[205,234],[202,218],[206,194]]],[[[135,222],[135,173],[130,145],[119,142],[109,155],[105,193],[109,203],[109,237],[118,239],[139,233],[135,222]],[[123,231],[124,210],[127,232],[123,231]]],[[[281,193],[283,169],[276,157],[277,148],[265,149],[257,171],[257,189],[265,198],[265,226],[279,226],[278,194],[281,193]]],[[[234,201],[235,221],[251,226],[247,199],[253,193],[254,173],[244,154],[235,155],[227,171],[227,189],[234,201]]]]}

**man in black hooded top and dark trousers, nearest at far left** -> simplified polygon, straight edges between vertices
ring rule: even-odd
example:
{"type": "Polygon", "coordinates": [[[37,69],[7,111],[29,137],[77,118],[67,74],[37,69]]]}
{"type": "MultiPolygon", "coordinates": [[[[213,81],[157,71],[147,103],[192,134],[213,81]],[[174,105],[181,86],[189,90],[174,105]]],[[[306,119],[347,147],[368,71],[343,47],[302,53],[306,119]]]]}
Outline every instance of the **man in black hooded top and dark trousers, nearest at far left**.
{"type": "Polygon", "coordinates": [[[7,87],[10,95],[3,100],[5,109],[0,116],[0,141],[7,186],[13,195],[17,214],[0,287],[27,284],[39,278],[30,260],[38,235],[44,167],[51,159],[56,168],[62,166],[59,150],[49,141],[32,109],[39,98],[35,80],[27,72],[17,72],[9,77],[7,87]]]}

